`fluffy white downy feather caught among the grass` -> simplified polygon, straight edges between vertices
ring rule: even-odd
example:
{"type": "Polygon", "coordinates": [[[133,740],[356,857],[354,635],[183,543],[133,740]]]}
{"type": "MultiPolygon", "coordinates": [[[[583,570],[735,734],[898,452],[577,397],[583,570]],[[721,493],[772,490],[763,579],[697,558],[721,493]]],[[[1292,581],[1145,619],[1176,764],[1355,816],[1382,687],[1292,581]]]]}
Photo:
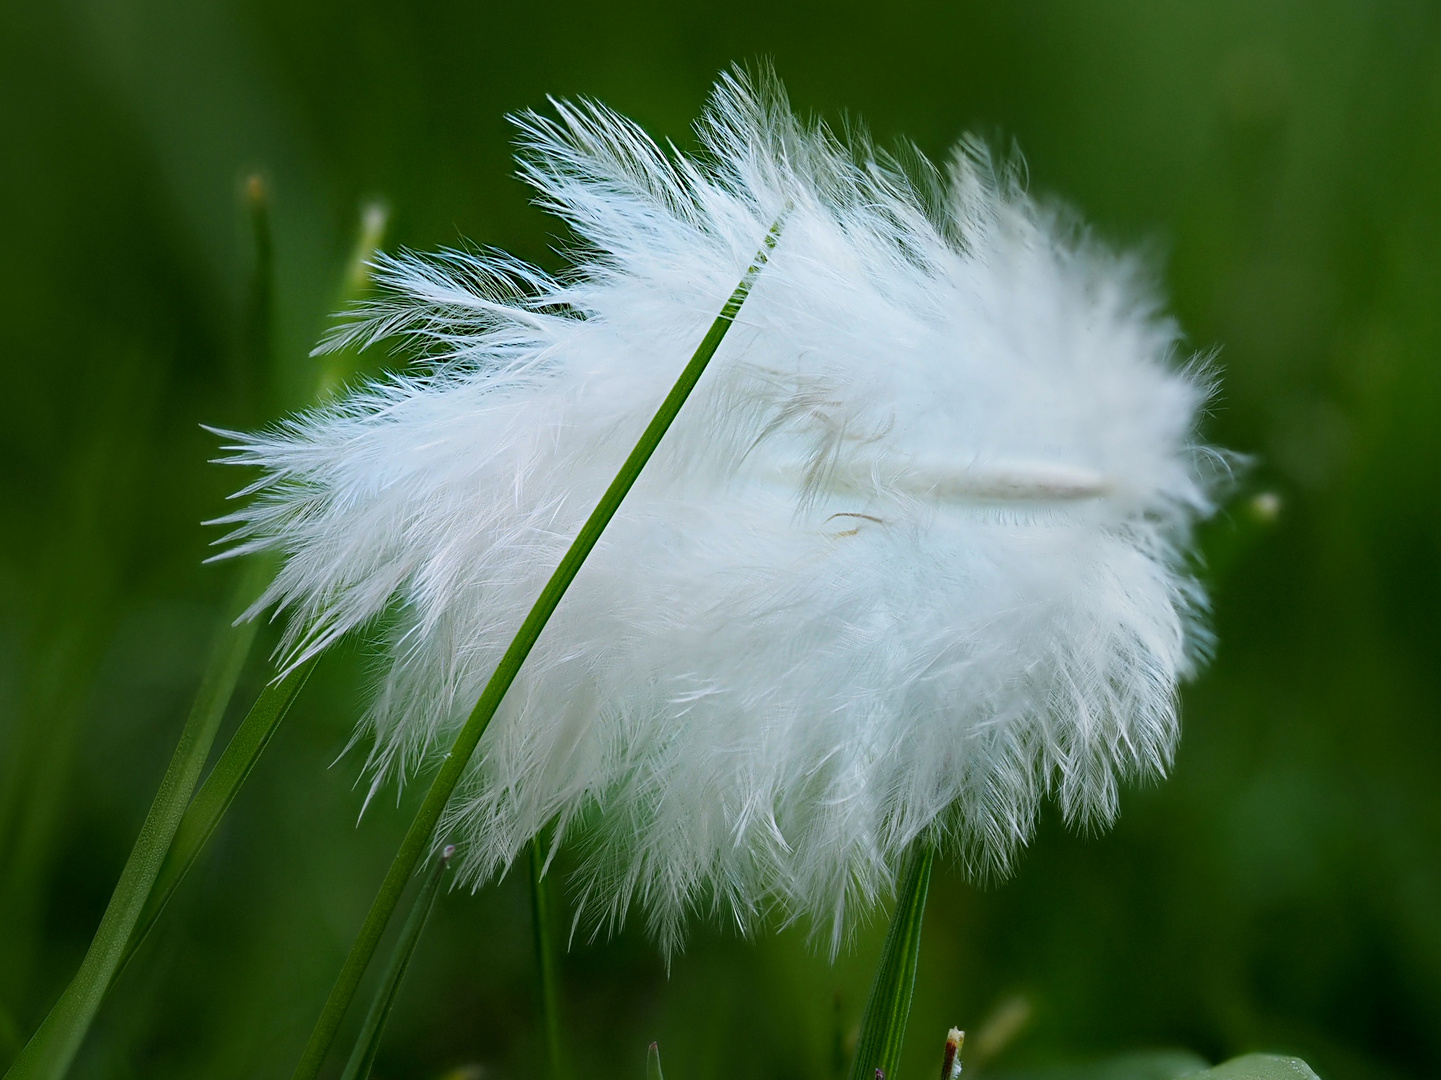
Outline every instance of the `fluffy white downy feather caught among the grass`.
{"type": "MultiPolygon", "coordinates": [[[[370,623],[375,783],[437,760],[768,226],[729,336],[581,570],[440,835],[473,884],[555,820],[595,924],[697,908],[834,947],[928,833],[1004,872],[1052,796],[1160,776],[1205,643],[1185,570],[1225,459],[1138,264],[963,141],[902,169],[722,78],[700,153],[594,102],[519,117],[563,278],[401,255],[331,345],[421,366],[226,460],[229,554],[298,663],[370,623]],[[788,209],[787,209],[788,208],[788,209]]],[[[372,789],[373,792],[373,789],[372,789]]]]}

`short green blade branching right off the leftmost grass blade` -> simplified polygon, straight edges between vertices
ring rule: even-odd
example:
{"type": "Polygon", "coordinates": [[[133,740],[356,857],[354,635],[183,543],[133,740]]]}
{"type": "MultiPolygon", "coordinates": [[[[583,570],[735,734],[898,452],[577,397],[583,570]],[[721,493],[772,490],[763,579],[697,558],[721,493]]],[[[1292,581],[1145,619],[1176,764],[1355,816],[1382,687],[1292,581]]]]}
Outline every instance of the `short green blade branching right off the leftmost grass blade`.
{"type": "MultiPolygon", "coordinates": [[[[261,754],[275,734],[275,728],[285,718],[295,696],[314,669],[316,660],[307,660],[280,682],[268,683],[255,699],[255,704],[251,705],[251,711],[231,737],[229,744],[220,754],[220,760],[215,763],[215,769],[210,770],[205,783],[200,784],[200,790],[190,800],[190,806],[186,807],[184,818],[182,818],[180,826],[176,829],[174,841],[170,844],[170,854],[166,855],[166,861],[160,867],[160,875],[150,890],[150,897],[146,900],[140,921],[135,924],[135,930],[125,944],[125,955],[121,959],[120,970],[130,962],[140,943],[146,940],[146,934],[150,933],[156,920],[160,919],[176,887],[189,872],[196,858],[199,858],[200,851],[210,839],[210,833],[215,832],[220,823],[220,818],[231,807],[236,793],[241,790],[241,784],[245,783],[251,770],[255,769],[255,763],[259,761],[261,754]]],[[[117,975],[120,970],[117,970],[117,975]]]]}

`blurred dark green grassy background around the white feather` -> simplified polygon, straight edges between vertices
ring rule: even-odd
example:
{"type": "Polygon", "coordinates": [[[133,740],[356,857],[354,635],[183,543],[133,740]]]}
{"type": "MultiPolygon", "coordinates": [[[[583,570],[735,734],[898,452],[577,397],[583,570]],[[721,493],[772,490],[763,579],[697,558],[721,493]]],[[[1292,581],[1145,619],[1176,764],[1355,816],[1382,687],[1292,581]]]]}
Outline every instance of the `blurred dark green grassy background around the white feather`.
{"type": "MultiPolygon", "coordinates": [[[[1441,1071],[1441,12],[1391,0],[0,4],[0,1064],[79,962],[231,587],[199,522],[238,477],[199,425],[304,399],[363,200],[388,245],[555,267],[504,114],[586,94],[686,146],[715,74],[761,58],[882,141],[1014,137],[1035,190],[1148,248],[1221,349],[1210,434],[1282,497],[1248,545],[1212,532],[1221,647],[1174,776],[1104,836],[1048,818],[1001,885],[938,868],[908,1076],[997,1008],[1026,1022],[980,1071],[1441,1071]],[[242,378],[255,172],[268,395],[242,378]]],[[[360,757],[331,764],[370,663],[323,662],[76,1076],[288,1076],[412,807],[357,826],[360,757]]],[[[669,976],[635,930],[578,939],[574,1076],[640,1077],[659,1038],[672,1080],[831,1080],[882,933],[831,966],[798,930],[697,927],[669,976]]],[[[442,895],[378,1076],[537,1076],[535,1017],[525,874],[442,895]]]]}

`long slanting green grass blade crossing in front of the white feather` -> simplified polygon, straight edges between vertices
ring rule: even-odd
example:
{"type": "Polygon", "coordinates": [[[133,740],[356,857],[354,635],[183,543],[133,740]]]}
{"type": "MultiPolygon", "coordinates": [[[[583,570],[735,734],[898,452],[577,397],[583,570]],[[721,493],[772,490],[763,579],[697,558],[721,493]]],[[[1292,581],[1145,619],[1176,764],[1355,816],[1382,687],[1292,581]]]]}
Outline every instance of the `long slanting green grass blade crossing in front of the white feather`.
{"type": "Polygon", "coordinates": [[[536,600],[535,607],[530,608],[530,614],[526,616],[525,621],[520,624],[520,630],[516,632],[514,639],[506,649],[504,656],[500,658],[500,663],[496,666],[494,675],[490,676],[490,682],[486,683],[486,689],[481,692],[480,701],[476,702],[476,708],[471,709],[470,717],[465,720],[465,725],[455,737],[451,751],[441,763],[435,779],[431,782],[429,790],[425,793],[425,800],[421,803],[421,809],[415,815],[415,820],[411,822],[411,828],[405,833],[405,839],[401,842],[401,849],[391,862],[391,869],[386,872],[385,881],[380,884],[380,891],[376,894],[375,903],[370,906],[365,924],[360,927],[360,933],[356,937],[354,944],[350,947],[350,955],[346,956],[344,966],[340,969],[336,985],[331,988],[330,996],[326,999],[320,1019],[316,1021],[316,1028],[310,1034],[310,1041],[305,1044],[300,1064],[295,1067],[295,1080],[314,1080],[314,1077],[320,1073],[320,1066],[324,1063],[330,1044],[334,1041],[336,1030],[340,1027],[340,1019],[344,1017],[346,1008],[349,1008],[352,998],[354,998],[356,988],[360,985],[360,976],[365,973],[366,965],[370,962],[370,956],[375,953],[375,949],[380,942],[380,936],[385,933],[386,923],[391,921],[391,916],[395,913],[396,904],[401,903],[401,894],[405,891],[406,881],[409,881],[421,859],[431,849],[431,835],[435,832],[435,826],[441,819],[441,812],[445,809],[445,803],[450,802],[451,793],[455,790],[455,784],[460,783],[461,773],[464,773],[465,766],[470,763],[470,756],[476,753],[476,745],[480,743],[480,737],[486,734],[490,718],[496,715],[496,709],[500,707],[501,698],[504,698],[506,691],[510,689],[510,683],[514,682],[516,675],[520,670],[520,665],[525,662],[526,656],[530,655],[530,649],[535,646],[536,639],[540,637],[540,630],[545,629],[550,614],[561,603],[561,597],[565,596],[565,590],[569,588],[571,581],[574,581],[575,575],[579,572],[581,564],[585,562],[585,557],[591,554],[591,549],[601,538],[601,531],[610,523],[611,518],[615,516],[615,510],[620,509],[625,493],[630,492],[631,486],[635,483],[641,469],[646,467],[650,456],[660,444],[661,437],[680,412],[680,407],[686,402],[690,391],[700,379],[702,372],[705,372],[710,358],[720,346],[726,330],[731,329],[736,313],[741,310],[741,304],[745,303],[745,297],[749,294],[751,286],[755,283],[757,275],[769,258],[771,251],[774,251],[780,234],[781,221],[777,221],[771,226],[771,231],[765,235],[765,242],[757,252],[755,261],[745,271],[745,277],[741,278],[741,284],[736,286],[731,298],[726,300],[725,307],[720,309],[720,314],[716,316],[716,320],[710,324],[710,329],[702,339],[700,346],[690,358],[684,371],[682,371],[680,378],[676,381],[676,385],[672,386],[670,394],[666,395],[666,399],[656,411],[656,415],[651,418],[644,434],[641,434],[635,448],[631,450],[630,457],[627,457],[625,463],[621,466],[620,473],[617,473],[611,486],[605,489],[605,495],[601,496],[599,503],[597,503],[585,525],[581,526],[581,531],[576,534],[569,551],[566,551],[565,557],[561,559],[561,565],[556,567],[555,572],[550,575],[550,580],[540,591],[540,597],[536,600]]]}

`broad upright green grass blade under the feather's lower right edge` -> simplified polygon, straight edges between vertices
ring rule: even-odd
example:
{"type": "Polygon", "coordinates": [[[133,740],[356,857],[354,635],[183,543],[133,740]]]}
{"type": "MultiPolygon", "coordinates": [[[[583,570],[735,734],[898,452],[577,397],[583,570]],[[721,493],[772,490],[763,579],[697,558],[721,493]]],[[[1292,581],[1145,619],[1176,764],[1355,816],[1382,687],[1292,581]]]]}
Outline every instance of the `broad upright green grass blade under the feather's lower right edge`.
{"type": "Polygon", "coordinates": [[[895,1080],[901,1061],[905,1025],[911,1018],[911,993],[915,989],[915,963],[921,953],[921,920],[925,917],[925,894],[931,888],[931,865],[935,848],[916,841],[906,857],[896,910],[880,950],[866,1012],[860,1021],[856,1060],[850,1080],[895,1080]]]}

